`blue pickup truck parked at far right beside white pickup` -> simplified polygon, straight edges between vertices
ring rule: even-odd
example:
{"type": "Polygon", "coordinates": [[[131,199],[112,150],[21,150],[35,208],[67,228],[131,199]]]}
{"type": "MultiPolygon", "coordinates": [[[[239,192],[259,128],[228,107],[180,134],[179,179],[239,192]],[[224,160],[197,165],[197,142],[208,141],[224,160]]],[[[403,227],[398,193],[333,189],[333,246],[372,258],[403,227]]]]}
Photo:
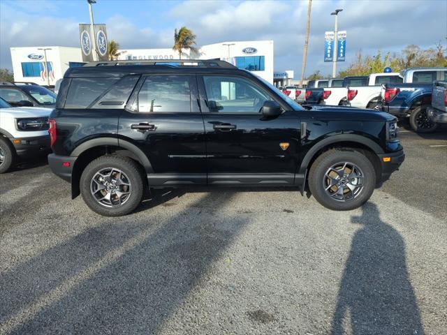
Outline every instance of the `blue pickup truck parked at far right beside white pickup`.
{"type": "Polygon", "coordinates": [[[403,84],[383,85],[381,110],[402,119],[409,118],[413,131],[431,133],[438,123],[427,115],[427,107],[432,105],[433,82],[447,80],[447,68],[409,68],[400,76],[403,84]]]}

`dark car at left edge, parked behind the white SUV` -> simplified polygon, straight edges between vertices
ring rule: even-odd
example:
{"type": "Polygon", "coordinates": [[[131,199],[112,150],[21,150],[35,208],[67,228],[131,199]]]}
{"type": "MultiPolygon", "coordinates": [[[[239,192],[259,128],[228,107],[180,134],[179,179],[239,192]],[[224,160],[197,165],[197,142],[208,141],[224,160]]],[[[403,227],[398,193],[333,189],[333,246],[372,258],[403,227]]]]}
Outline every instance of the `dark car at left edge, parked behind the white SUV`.
{"type": "Polygon", "coordinates": [[[56,94],[34,82],[0,82],[0,98],[13,107],[54,108],[56,94]]]}

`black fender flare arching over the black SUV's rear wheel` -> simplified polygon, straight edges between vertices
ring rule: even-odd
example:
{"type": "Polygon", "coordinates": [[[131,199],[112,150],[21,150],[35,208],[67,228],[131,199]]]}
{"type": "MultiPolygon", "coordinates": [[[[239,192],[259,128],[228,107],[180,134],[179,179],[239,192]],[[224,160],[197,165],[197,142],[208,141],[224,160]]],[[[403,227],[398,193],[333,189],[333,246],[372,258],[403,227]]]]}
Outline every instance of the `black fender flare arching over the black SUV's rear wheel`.
{"type": "Polygon", "coordinates": [[[83,142],[80,144],[76,149],[73,150],[70,156],[78,157],[83,152],[85,152],[88,149],[94,148],[94,147],[101,147],[103,145],[111,145],[114,147],[120,147],[122,149],[126,149],[131,151],[132,154],[134,154],[138,161],[142,164],[143,168],[145,168],[145,171],[147,173],[154,173],[154,169],[152,168],[152,164],[149,162],[149,159],[145,155],[145,153],[138,148],[135,144],[132,144],[129,141],[119,139],[117,137],[99,137],[94,138],[92,140],[87,140],[86,142],[83,142]]]}

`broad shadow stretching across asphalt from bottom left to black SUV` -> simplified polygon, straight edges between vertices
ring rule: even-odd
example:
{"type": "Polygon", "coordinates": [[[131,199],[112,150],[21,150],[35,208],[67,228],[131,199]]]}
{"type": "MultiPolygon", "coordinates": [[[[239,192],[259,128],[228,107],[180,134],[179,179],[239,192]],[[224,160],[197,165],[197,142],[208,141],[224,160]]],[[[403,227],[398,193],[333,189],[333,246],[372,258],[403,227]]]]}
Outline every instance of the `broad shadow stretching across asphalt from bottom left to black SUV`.
{"type": "Polygon", "coordinates": [[[0,334],[158,332],[248,224],[222,214],[233,196],[105,221],[0,272],[0,334]]]}

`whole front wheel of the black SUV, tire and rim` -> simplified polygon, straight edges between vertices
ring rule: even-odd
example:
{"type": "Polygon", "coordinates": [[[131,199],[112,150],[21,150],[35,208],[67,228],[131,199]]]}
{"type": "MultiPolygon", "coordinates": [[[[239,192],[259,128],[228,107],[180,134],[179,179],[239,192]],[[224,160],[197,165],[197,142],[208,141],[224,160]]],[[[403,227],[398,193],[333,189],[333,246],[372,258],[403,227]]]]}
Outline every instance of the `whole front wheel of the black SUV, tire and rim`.
{"type": "MultiPolygon", "coordinates": [[[[330,173],[332,174],[334,172],[335,170],[330,173]]],[[[335,181],[335,179],[332,180],[335,181]]],[[[309,172],[309,188],[312,195],[314,195],[316,201],[324,207],[335,211],[348,211],[362,206],[362,204],[371,198],[375,185],[376,172],[374,171],[371,161],[369,161],[365,155],[361,154],[359,151],[353,151],[353,149],[331,149],[325,151],[316,158],[309,172]],[[349,163],[349,165],[344,165],[344,163],[349,163]],[[327,177],[327,172],[333,165],[340,167],[346,166],[343,170],[346,174],[359,171],[362,173],[356,174],[358,175],[358,178],[349,179],[340,177],[339,183],[343,184],[334,184],[328,191],[326,191],[325,188],[330,185],[328,184],[330,178],[327,177]],[[353,168],[351,168],[351,166],[353,168]],[[362,179],[362,183],[360,183],[360,178],[362,179]],[[351,182],[344,184],[346,183],[346,179],[352,181],[352,184],[351,182]],[[354,186],[353,184],[358,184],[359,186],[354,186]],[[362,186],[360,186],[360,184],[362,184],[362,186]],[[339,190],[339,187],[342,187],[342,195],[335,194],[337,193],[336,191],[339,190]],[[355,190],[349,191],[351,187],[354,187],[355,190]],[[348,192],[345,193],[345,191],[348,192]],[[336,195],[336,197],[334,198],[329,193],[336,195]],[[351,199],[349,199],[350,195],[351,199]],[[346,200],[337,200],[337,198],[346,198],[346,200]]]]}

